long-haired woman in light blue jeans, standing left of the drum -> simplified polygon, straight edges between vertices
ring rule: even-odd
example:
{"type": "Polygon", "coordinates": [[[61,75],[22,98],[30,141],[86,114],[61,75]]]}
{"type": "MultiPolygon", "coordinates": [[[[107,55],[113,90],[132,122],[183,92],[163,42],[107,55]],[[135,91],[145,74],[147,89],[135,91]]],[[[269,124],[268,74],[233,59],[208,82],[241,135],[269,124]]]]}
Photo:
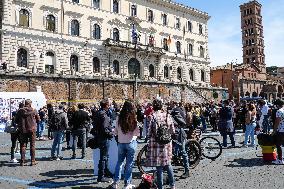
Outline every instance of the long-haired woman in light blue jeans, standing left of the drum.
{"type": "Polygon", "coordinates": [[[254,147],[254,130],[256,127],[256,108],[254,104],[248,105],[248,112],[246,114],[246,131],[245,131],[245,142],[244,147],[248,147],[248,139],[250,136],[251,144],[254,147]]]}

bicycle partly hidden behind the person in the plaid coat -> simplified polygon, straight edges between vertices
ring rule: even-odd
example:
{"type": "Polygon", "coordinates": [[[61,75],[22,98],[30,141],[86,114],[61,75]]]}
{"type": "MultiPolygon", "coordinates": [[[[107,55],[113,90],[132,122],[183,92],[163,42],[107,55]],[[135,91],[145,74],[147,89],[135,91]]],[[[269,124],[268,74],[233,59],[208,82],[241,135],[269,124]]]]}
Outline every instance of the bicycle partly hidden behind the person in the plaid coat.
{"type": "MultiPolygon", "coordinates": [[[[173,146],[182,145],[177,140],[172,140],[173,146]]],[[[188,158],[190,162],[190,168],[194,169],[200,162],[201,159],[201,146],[198,141],[194,139],[187,139],[185,145],[186,151],[188,153],[188,158]]],[[[148,144],[146,144],[137,155],[137,167],[142,174],[154,174],[156,171],[155,167],[147,166],[147,149],[148,144]]],[[[173,166],[183,166],[182,155],[180,152],[177,155],[174,155],[173,158],[175,161],[172,161],[173,166]]]]}

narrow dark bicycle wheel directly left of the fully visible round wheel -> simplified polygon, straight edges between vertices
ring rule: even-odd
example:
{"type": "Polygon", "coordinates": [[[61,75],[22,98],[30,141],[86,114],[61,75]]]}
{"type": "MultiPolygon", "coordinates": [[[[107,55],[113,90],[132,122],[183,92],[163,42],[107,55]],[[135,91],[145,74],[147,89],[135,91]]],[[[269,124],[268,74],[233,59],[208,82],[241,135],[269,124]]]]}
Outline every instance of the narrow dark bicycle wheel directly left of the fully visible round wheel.
{"type": "Polygon", "coordinates": [[[190,139],[185,144],[185,148],[188,154],[190,167],[194,169],[201,159],[201,146],[196,140],[190,139]]]}

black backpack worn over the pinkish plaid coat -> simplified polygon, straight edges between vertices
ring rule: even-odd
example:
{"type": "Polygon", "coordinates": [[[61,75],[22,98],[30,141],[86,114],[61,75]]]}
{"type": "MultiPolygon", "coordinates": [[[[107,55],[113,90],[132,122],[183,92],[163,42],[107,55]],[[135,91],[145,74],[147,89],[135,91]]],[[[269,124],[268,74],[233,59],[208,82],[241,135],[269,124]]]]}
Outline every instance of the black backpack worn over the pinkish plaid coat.
{"type": "Polygon", "coordinates": [[[170,143],[172,141],[172,135],[171,135],[169,126],[167,125],[168,114],[167,114],[167,118],[166,118],[166,124],[165,123],[159,124],[155,118],[153,118],[153,119],[154,119],[154,122],[155,122],[155,129],[156,129],[156,133],[155,133],[156,134],[155,135],[156,142],[158,144],[161,144],[161,145],[165,145],[165,144],[170,143]]]}

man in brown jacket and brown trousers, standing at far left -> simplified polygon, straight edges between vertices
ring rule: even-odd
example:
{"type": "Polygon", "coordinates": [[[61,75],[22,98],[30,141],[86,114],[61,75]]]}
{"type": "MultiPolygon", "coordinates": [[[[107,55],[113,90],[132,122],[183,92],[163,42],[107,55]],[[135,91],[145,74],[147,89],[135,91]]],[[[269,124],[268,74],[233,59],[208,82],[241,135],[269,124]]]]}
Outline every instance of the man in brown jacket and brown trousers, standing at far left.
{"type": "Polygon", "coordinates": [[[25,106],[20,108],[16,115],[16,123],[19,128],[19,139],[20,139],[20,153],[21,161],[20,165],[26,165],[26,147],[27,143],[30,142],[30,155],[31,155],[31,166],[36,165],[35,160],[35,139],[36,139],[36,123],[40,118],[32,108],[32,101],[25,100],[25,106]]]}

